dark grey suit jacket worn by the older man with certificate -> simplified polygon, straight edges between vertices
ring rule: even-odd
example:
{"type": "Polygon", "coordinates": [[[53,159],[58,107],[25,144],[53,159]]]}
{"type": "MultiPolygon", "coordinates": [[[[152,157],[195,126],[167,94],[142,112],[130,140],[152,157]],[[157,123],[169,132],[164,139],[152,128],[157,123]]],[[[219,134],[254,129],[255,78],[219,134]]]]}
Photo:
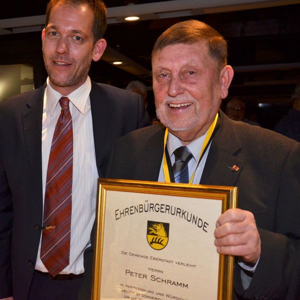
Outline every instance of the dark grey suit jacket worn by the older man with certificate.
{"type": "MultiPolygon", "coordinates": [[[[164,130],[157,124],[118,139],[107,177],[156,181],[164,130]]],[[[261,238],[260,260],[246,291],[235,264],[236,299],[284,299],[300,238],[299,174],[300,143],[221,114],[200,183],[238,186],[238,207],[254,214],[261,238]],[[234,164],[238,171],[230,169],[234,164]]]]}

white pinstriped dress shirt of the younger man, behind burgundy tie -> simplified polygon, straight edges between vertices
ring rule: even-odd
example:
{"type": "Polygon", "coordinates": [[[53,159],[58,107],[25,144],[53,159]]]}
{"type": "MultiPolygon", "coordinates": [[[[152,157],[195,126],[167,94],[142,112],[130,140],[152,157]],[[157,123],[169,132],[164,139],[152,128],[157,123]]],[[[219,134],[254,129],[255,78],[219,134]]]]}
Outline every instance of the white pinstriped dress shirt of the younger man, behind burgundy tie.
{"type": "MultiPolygon", "coordinates": [[[[72,178],[72,215],[69,265],[61,274],[80,274],[84,271],[83,251],[90,245],[90,231],[95,217],[97,168],[95,159],[92,118],[89,93],[90,78],[67,95],[73,126],[73,178],[72,178]]],[[[47,79],[44,92],[42,113],[42,192],[45,195],[45,182],[50,147],[54,128],[60,114],[58,100],[62,95],[54,90],[47,79]]],[[[39,241],[35,269],[47,272],[40,260],[39,241]]]]}

